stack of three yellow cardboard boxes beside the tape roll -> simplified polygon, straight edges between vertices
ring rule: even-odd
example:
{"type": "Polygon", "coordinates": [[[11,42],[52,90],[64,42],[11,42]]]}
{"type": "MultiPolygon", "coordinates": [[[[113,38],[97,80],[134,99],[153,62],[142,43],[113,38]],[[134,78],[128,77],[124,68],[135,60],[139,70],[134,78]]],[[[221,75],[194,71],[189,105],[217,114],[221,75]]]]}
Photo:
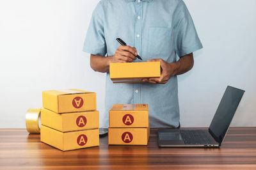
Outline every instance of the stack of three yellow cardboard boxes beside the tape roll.
{"type": "Polygon", "coordinates": [[[99,146],[96,94],[79,89],[43,91],[41,141],[60,150],[99,146]]]}

